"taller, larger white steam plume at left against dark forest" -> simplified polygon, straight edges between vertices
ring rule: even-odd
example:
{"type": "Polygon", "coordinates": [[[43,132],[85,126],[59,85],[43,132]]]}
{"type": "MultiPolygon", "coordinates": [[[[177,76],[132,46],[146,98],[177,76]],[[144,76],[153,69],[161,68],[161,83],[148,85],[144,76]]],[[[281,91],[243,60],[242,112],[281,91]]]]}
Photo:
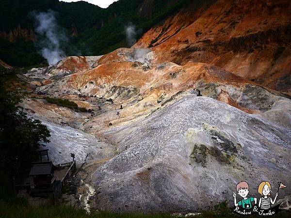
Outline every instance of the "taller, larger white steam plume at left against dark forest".
{"type": "Polygon", "coordinates": [[[67,41],[64,31],[58,26],[53,11],[32,13],[35,18],[36,33],[42,36],[38,42],[42,56],[50,64],[65,58],[65,52],[60,48],[61,41],[67,41]]]}

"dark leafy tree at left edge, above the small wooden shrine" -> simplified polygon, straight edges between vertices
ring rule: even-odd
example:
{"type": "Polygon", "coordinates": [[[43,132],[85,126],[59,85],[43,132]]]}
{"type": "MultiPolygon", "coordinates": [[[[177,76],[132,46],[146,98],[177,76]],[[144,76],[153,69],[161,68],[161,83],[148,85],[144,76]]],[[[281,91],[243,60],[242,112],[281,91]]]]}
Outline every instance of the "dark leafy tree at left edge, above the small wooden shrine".
{"type": "Polygon", "coordinates": [[[45,125],[19,107],[22,96],[15,90],[7,92],[5,79],[0,78],[0,183],[11,187],[12,177],[17,178],[38,160],[39,142],[49,142],[50,134],[45,125]]]}

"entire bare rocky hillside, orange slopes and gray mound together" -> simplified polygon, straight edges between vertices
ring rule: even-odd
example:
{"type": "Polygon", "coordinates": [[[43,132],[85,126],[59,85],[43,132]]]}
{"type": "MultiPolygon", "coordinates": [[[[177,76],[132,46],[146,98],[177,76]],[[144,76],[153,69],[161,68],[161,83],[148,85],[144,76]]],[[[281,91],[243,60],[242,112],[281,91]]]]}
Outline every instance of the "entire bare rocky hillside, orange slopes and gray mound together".
{"type": "MultiPolygon", "coordinates": [[[[67,57],[19,76],[32,89],[23,108],[54,131],[53,158],[72,148],[84,161],[70,203],[188,212],[232,202],[242,180],[256,197],[259,181],[291,186],[290,15],[283,10],[290,4],[252,2],[190,4],[132,48],[67,57]]],[[[279,198],[290,195],[286,188],[279,198]]]]}

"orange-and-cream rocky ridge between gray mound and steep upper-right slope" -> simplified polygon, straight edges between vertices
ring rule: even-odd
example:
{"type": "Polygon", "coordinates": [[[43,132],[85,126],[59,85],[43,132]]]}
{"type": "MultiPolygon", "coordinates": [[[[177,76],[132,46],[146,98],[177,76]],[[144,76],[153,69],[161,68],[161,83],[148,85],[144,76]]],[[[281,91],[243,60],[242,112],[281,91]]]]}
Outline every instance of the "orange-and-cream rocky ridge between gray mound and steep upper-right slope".
{"type": "MultiPolygon", "coordinates": [[[[272,105],[280,98],[275,96],[279,95],[278,92],[256,88],[259,87],[256,82],[209,63],[178,65],[174,62],[154,62],[157,61],[153,51],[139,48],[119,48],[101,58],[67,57],[49,68],[52,73],[48,75],[48,80],[43,80],[37,92],[79,103],[88,101],[97,111],[101,108],[102,116],[94,118],[94,122],[100,123],[98,128],[94,127],[96,131],[108,127],[108,123],[127,123],[151,114],[185,94],[196,94],[196,89],[203,96],[247,113],[261,113],[269,107],[267,104],[272,105]],[[68,70],[72,73],[64,76],[68,70]],[[48,82],[45,84],[45,81],[48,82]],[[252,93],[258,96],[251,100],[255,106],[248,105],[245,100],[252,99],[252,93]],[[263,103],[263,99],[271,100],[270,103],[263,103]]],[[[88,123],[85,128],[92,128],[91,124],[88,123]]]]}

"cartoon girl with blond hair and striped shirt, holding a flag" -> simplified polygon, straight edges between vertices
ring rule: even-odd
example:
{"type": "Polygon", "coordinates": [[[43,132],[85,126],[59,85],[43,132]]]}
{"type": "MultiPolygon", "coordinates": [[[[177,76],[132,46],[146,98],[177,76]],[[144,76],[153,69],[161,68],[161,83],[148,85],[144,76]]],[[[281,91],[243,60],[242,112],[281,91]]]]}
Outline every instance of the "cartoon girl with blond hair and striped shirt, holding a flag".
{"type": "Polygon", "coordinates": [[[269,182],[267,182],[267,181],[261,182],[259,184],[258,192],[262,196],[259,199],[259,207],[261,209],[264,209],[264,210],[270,209],[271,208],[271,203],[274,204],[276,199],[277,199],[278,192],[276,193],[276,197],[275,197],[275,199],[273,201],[272,198],[270,197],[271,196],[271,194],[270,194],[270,192],[271,192],[271,184],[269,182]]]}

